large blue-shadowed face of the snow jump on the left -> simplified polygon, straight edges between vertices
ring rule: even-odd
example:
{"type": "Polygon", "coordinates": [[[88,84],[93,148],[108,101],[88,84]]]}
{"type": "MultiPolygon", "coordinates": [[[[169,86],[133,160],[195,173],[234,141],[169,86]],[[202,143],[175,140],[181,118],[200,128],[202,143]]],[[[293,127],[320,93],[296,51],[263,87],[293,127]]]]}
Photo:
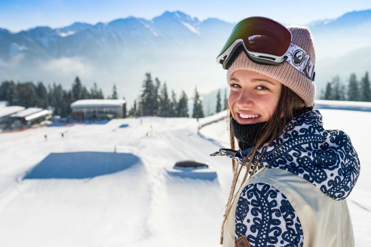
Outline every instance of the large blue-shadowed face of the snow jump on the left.
{"type": "Polygon", "coordinates": [[[138,156],[110,152],[51,153],[23,179],[92,178],[141,164],[138,156]]]}

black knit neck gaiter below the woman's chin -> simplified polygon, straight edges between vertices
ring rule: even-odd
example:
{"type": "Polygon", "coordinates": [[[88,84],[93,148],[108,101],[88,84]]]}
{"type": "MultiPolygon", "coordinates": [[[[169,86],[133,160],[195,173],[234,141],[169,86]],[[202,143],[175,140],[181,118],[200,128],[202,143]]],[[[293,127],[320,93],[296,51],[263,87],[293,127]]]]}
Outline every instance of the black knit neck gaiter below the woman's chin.
{"type": "MultiPolygon", "coordinates": [[[[299,111],[293,113],[294,118],[304,112],[311,111],[312,109],[313,106],[303,107],[299,111]]],[[[238,146],[241,150],[254,146],[255,141],[258,140],[260,135],[264,133],[262,128],[266,122],[239,124],[236,122],[236,120],[234,120],[233,116],[231,116],[230,121],[232,123],[233,135],[237,138],[238,146]]],[[[271,136],[269,136],[268,138],[270,137],[271,136]]]]}

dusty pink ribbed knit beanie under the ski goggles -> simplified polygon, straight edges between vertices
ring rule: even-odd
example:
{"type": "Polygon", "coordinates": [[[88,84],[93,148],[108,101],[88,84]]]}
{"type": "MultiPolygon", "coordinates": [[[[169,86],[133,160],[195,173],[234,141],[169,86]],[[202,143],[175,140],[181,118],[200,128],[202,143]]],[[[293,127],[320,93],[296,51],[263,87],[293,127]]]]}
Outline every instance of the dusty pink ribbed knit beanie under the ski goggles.
{"type": "MultiPolygon", "coordinates": [[[[292,43],[300,46],[308,53],[313,65],[316,65],[316,53],[314,49],[313,37],[308,27],[288,26],[287,29],[292,33],[292,43]]],[[[288,62],[283,62],[280,65],[260,65],[252,62],[244,53],[240,54],[228,68],[227,82],[230,82],[233,73],[236,70],[246,69],[258,72],[278,80],[283,85],[287,86],[305,102],[305,106],[313,106],[316,95],[316,85],[305,75],[300,73],[288,62]]]]}

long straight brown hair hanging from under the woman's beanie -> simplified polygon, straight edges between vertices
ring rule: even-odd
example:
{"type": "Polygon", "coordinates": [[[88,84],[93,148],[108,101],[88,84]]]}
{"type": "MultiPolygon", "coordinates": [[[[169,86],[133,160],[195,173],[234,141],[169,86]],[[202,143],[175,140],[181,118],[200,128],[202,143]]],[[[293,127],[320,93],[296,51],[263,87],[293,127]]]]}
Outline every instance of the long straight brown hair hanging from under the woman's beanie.
{"type": "MultiPolygon", "coordinates": [[[[265,123],[265,125],[263,125],[262,129],[260,130],[261,132],[258,134],[259,138],[257,138],[257,140],[255,140],[254,148],[243,159],[241,167],[239,168],[239,170],[237,172],[236,179],[239,178],[240,171],[241,171],[243,165],[247,163],[246,164],[246,172],[245,172],[245,175],[243,177],[243,180],[240,183],[240,188],[241,188],[242,184],[246,181],[247,174],[249,173],[250,168],[253,166],[253,170],[250,174],[250,177],[251,177],[252,174],[254,174],[254,171],[256,170],[257,164],[260,162],[260,160],[261,160],[263,154],[265,153],[266,149],[268,148],[269,144],[273,141],[273,139],[275,137],[277,137],[279,134],[282,133],[282,131],[285,129],[286,124],[294,118],[294,113],[296,111],[298,111],[299,109],[301,109],[302,107],[304,107],[304,106],[305,106],[304,101],[296,93],[294,93],[291,89],[289,89],[285,85],[282,85],[280,98],[279,98],[278,105],[277,105],[277,108],[276,108],[275,112],[270,117],[270,119],[265,123]],[[257,159],[256,163],[252,164],[252,162],[254,161],[254,159],[252,157],[255,157],[255,154],[256,154],[257,150],[259,148],[261,148],[261,146],[263,144],[265,144],[266,142],[268,142],[268,145],[263,150],[262,154],[257,159]]],[[[235,141],[234,141],[235,137],[234,137],[233,131],[232,131],[232,123],[230,122],[230,118],[232,117],[232,114],[230,112],[230,108],[229,108],[228,103],[226,105],[226,108],[227,108],[227,121],[229,122],[230,144],[231,144],[231,148],[235,149],[236,148],[236,144],[235,144],[235,141]]],[[[236,170],[236,161],[234,159],[232,159],[232,171],[234,172],[235,170],[236,170]]],[[[232,195],[234,193],[235,187],[236,187],[236,184],[234,184],[234,187],[233,187],[233,190],[232,190],[232,195]]],[[[240,188],[237,190],[237,193],[240,190],[240,188]]],[[[237,195],[237,193],[236,193],[236,195],[237,195]]],[[[229,200],[227,205],[226,205],[226,207],[229,207],[229,208],[228,208],[228,211],[227,211],[226,215],[224,215],[225,217],[224,217],[224,220],[223,220],[223,226],[226,222],[229,211],[232,208],[232,204],[233,204],[232,201],[234,200],[236,195],[234,195],[232,200],[229,200]]]]}

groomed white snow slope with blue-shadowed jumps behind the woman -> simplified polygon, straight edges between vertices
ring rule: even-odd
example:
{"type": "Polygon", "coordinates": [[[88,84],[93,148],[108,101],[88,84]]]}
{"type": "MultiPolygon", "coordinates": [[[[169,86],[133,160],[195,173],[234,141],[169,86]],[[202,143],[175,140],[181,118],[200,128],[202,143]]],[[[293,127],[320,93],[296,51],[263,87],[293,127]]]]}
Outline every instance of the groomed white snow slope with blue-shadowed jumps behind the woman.
{"type": "MultiPolygon", "coordinates": [[[[347,132],[358,152],[361,174],[347,200],[356,246],[370,246],[371,112],[320,111],[325,128],[347,132]]],[[[215,116],[207,118],[114,119],[0,134],[0,246],[220,246],[232,168],[230,158],[209,156],[229,145],[227,121],[197,133],[215,116]],[[150,125],[153,135],[146,136],[150,125]],[[207,162],[217,178],[167,172],[184,159],[207,162]]]]}

